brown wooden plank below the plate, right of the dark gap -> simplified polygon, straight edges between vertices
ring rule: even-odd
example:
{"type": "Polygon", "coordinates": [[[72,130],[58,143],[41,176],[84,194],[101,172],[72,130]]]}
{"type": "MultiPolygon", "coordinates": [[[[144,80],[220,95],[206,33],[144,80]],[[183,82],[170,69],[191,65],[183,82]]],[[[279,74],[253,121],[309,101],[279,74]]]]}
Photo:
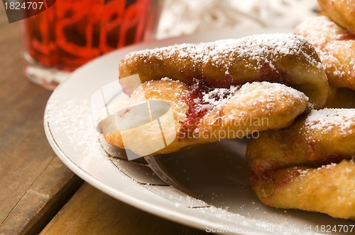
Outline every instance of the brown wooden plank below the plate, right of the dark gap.
{"type": "Polygon", "coordinates": [[[46,234],[204,234],[156,217],[84,183],[40,235],[46,234]]]}

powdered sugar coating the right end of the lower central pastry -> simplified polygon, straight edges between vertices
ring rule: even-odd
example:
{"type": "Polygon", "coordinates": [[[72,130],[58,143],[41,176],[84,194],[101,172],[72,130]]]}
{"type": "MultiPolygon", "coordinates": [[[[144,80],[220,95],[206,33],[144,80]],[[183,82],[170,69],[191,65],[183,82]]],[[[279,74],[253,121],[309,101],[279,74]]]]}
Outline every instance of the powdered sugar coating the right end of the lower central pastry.
{"type": "MultiPolygon", "coordinates": [[[[271,116],[276,110],[275,108],[288,110],[292,107],[301,110],[302,105],[305,107],[308,100],[309,98],[304,93],[289,86],[268,81],[256,81],[236,88],[206,115],[211,118],[209,119],[211,123],[215,123],[217,120],[231,120],[235,124],[249,120],[253,113],[257,116],[260,116],[261,113],[271,116]]],[[[245,122],[241,125],[245,125],[245,122]]],[[[197,128],[198,130],[200,129],[197,128]]]]}

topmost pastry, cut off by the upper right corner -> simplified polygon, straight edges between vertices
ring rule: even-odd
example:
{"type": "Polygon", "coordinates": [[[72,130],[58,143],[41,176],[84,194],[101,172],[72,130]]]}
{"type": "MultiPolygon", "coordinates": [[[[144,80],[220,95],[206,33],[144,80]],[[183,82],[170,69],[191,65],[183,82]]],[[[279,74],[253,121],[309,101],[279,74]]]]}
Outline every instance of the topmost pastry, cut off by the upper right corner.
{"type": "Polygon", "coordinates": [[[332,21],[355,34],[355,0],[318,0],[318,3],[332,21]]]}

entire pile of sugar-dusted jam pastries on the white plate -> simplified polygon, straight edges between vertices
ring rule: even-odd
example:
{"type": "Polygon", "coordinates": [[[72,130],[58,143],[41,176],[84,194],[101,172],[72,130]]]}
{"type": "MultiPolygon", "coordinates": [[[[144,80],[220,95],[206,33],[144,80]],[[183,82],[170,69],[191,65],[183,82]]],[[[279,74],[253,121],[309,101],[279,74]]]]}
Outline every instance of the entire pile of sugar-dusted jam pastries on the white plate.
{"type": "MultiPolygon", "coordinates": [[[[121,83],[130,95],[121,108],[154,100],[173,111],[175,129],[162,133],[173,141],[151,155],[260,132],[249,140],[246,158],[262,202],[355,219],[355,1],[320,5],[323,15],[299,25],[296,35],[126,55],[120,79],[138,74],[142,84],[132,90],[121,83]]],[[[152,144],[153,133],[146,129],[141,139],[152,144]]],[[[129,149],[119,130],[103,134],[109,144],[129,149]]]]}

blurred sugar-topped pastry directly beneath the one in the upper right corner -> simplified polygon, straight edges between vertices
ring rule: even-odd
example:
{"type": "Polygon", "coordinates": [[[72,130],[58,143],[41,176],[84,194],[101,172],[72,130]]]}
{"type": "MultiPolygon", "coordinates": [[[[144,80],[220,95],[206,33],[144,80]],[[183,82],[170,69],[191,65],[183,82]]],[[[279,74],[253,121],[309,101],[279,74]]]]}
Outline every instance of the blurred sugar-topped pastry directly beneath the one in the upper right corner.
{"type": "Polygon", "coordinates": [[[355,35],[327,16],[316,16],[300,23],[295,34],[304,36],[317,50],[329,85],[355,90],[355,35]]]}

